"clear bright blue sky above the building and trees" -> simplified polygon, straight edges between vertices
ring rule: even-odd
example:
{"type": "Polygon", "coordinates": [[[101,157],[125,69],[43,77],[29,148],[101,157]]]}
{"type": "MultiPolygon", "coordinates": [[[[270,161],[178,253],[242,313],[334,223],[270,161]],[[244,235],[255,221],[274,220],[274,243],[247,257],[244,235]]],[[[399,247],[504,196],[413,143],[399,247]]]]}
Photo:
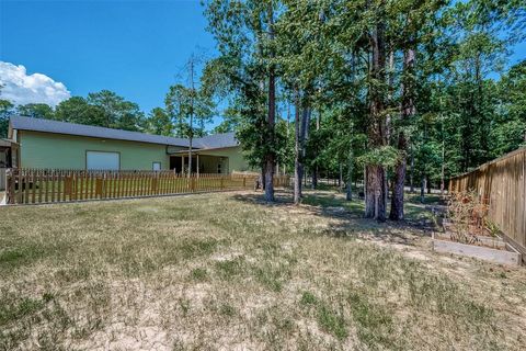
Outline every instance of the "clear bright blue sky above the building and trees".
{"type": "MultiPolygon", "coordinates": [[[[198,0],[0,0],[0,61],[25,67],[9,68],[25,77],[27,99],[108,89],[148,112],[193,52],[214,55],[206,25],[198,0]]],[[[525,57],[522,43],[511,63],[525,57]]]]}

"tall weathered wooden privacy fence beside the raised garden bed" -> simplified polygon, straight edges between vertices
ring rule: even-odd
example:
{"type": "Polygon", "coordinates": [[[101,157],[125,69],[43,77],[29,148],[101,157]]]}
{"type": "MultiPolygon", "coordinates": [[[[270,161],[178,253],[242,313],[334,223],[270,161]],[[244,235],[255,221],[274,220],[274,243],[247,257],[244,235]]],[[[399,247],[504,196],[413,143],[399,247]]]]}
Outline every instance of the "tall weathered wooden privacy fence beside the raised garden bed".
{"type": "Polygon", "coordinates": [[[526,148],[453,178],[449,191],[476,191],[488,217],[526,253],[526,148]]]}

